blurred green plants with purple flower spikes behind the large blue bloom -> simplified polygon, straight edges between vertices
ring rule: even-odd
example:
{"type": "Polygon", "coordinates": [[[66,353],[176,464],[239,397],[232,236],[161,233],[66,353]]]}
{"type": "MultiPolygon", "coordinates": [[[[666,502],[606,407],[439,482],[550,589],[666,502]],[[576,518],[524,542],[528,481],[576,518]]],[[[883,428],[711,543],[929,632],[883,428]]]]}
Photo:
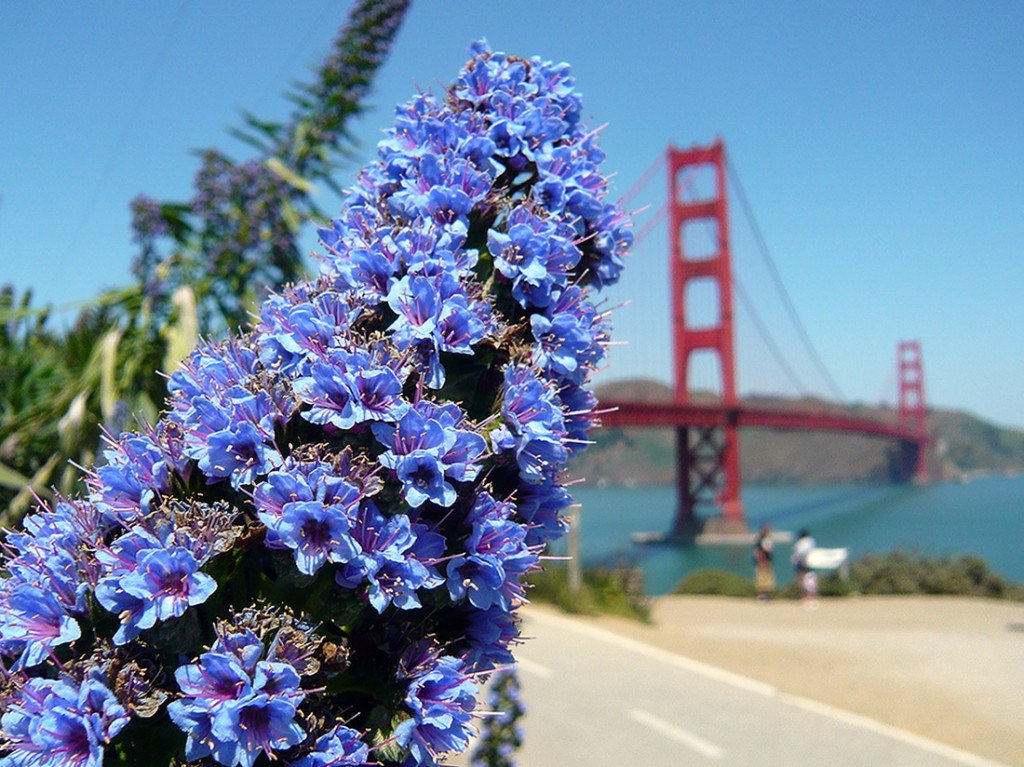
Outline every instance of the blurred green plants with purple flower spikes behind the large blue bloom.
{"type": "Polygon", "coordinates": [[[359,0],[309,85],[288,94],[287,123],[245,117],[258,157],[201,154],[186,203],[133,201],[136,282],[104,292],[63,332],[31,295],[0,292],[0,525],[33,494],[69,495],[103,430],[154,420],[172,372],[200,335],[244,325],[264,290],[301,276],[300,227],[317,214],[313,181],[351,154],[346,122],[362,109],[409,0],[359,0]],[[74,464],[69,463],[74,462],[74,464]]]}

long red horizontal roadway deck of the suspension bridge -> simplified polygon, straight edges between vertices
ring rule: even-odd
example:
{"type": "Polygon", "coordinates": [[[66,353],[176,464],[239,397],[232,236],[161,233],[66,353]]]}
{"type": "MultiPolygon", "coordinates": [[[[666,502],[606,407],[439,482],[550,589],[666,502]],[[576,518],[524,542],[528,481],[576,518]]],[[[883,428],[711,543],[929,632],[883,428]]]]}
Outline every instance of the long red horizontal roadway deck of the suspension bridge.
{"type": "Polygon", "coordinates": [[[845,431],[920,443],[921,434],[896,423],[857,418],[822,410],[772,409],[742,402],[722,404],[679,404],[677,402],[629,402],[601,400],[601,423],[609,428],[627,426],[726,426],[740,428],[845,431]]]}

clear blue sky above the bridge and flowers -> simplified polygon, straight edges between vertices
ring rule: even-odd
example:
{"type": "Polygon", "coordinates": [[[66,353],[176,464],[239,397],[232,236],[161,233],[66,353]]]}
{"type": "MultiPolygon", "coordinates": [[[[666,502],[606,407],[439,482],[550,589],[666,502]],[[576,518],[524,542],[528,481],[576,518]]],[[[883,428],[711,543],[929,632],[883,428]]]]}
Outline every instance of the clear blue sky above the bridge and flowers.
{"type": "MultiPolygon", "coordinates": [[[[193,148],[246,157],[226,136],[239,111],[283,117],[279,94],[347,7],[0,5],[0,283],[61,305],[126,282],[128,201],[186,199],[193,148]]],[[[450,80],[479,37],[572,65],[586,112],[608,123],[618,193],[670,141],[722,136],[848,399],[892,398],[896,342],[919,338],[930,403],[1024,427],[1024,3],[414,0],[357,126],[365,157],[391,108],[450,80]]],[[[660,205],[664,184],[637,205],[660,205]]],[[[805,386],[827,394],[738,206],[733,221],[740,281],[805,386]]],[[[635,301],[611,377],[668,374],[668,323],[649,314],[665,263],[652,236],[613,298],[635,301]]],[[[794,393],[752,326],[740,311],[740,390],[794,393]]]]}

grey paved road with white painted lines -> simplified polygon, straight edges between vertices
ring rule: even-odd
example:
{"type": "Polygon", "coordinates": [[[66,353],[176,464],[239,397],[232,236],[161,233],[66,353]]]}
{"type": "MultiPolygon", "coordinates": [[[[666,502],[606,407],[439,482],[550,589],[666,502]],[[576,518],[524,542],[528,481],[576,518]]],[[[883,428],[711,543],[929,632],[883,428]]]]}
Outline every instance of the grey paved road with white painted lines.
{"type": "Polygon", "coordinates": [[[534,610],[520,767],[993,767],[586,623],[534,610]]]}

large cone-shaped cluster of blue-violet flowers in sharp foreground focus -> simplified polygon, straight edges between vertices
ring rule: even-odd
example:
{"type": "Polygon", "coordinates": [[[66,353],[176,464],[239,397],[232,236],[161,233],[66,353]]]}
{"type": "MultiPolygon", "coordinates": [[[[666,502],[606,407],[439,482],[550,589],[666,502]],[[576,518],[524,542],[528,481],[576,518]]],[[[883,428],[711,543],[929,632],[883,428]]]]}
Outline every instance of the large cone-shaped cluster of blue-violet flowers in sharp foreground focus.
{"type": "Polygon", "coordinates": [[[596,422],[589,291],[631,241],[601,160],[564,65],[478,45],[397,111],[319,275],[7,537],[0,765],[467,748],[596,422]]]}

